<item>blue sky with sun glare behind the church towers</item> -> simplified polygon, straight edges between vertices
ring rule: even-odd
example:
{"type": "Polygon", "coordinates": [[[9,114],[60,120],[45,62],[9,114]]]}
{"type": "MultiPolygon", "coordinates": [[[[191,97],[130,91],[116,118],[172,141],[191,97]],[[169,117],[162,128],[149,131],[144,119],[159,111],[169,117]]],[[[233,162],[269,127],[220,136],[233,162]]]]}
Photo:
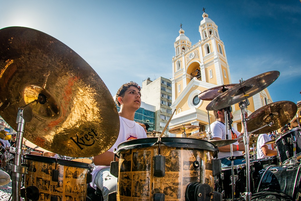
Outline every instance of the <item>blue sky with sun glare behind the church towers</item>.
{"type": "Polygon", "coordinates": [[[232,83],[280,71],[273,102],[301,100],[301,3],[287,1],[15,1],[0,0],[0,29],[47,33],[78,53],[112,95],[128,81],[172,77],[180,23],[200,40],[203,7],[218,26],[232,83]]]}

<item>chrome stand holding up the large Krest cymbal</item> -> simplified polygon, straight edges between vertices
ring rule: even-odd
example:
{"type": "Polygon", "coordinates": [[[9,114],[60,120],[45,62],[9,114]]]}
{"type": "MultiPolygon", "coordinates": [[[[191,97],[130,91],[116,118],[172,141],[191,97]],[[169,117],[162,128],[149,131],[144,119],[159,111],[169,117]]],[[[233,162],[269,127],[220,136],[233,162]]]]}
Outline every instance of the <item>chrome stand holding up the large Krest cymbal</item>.
{"type": "Polygon", "coordinates": [[[46,102],[46,97],[42,94],[39,95],[37,100],[28,103],[27,105],[20,107],[17,114],[17,139],[16,147],[12,147],[11,151],[15,153],[14,164],[8,163],[8,169],[11,170],[11,180],[12,180],[12,201],[20,201],[20,189],[22,175],[28,173],[28,168],[21,166],[21,156],[22,156],[22,143],[23,143],[23,133],[25,131],[26,123],[30,122],[32,119],[32,107],[38,103],[44,104],[46,102]]]}

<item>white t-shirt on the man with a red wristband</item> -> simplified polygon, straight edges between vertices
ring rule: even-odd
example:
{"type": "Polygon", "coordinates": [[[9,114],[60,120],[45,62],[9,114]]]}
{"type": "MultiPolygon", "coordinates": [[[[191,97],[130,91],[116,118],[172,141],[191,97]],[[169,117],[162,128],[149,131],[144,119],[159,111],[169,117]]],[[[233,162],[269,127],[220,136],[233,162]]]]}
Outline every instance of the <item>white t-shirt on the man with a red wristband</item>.
{"type": "MultiPolygon", "coordinates": [[[[222,140],[225,140],[226,139],[226,128],[225,128],[225,124],[220,122],[220,121],[214,121],[211,125],[210,125],[210,128],[211,128],[211,132],[212,132],[212,137],[219,137],[221,138],[222,140]]],[[[236,134],[237,137],[240,136],[240,132],[238,132],[237,130],[235,130],[233,127],[232,127],[232,131],[233,133],[236,134]]],[[[231,133],[228,133],[228,139],[230,140],[231,139],[231,133]]],[[[235,139],[235,138],[234,138],[235,139]]],[[[232,140],[234,140],[232,139],[232,140]]],[[[233,149],[235,150],[236,149],[236,145],[238,145],[239,143],[238,142],[235,142],[233,143],[233,149]]],[[[234,151],[233,152],[233,156],[238,156],[238,155],[242,155],[242,152],[241,151],[234,151]]],[[[219,152],[218,154],[219,158],[225,158],[225,157],[229,157],[231,156],[231,152],[219,152]]]]}

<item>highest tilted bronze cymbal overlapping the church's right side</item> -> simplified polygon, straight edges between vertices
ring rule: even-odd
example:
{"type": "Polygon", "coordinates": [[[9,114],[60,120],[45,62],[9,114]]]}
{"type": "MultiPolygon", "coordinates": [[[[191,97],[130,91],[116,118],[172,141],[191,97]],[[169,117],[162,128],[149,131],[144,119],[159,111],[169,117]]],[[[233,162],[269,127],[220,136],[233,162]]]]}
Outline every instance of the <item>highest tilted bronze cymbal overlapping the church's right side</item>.
{"type": "Polygon", "coordinates": [[[279,74],[279,71],[269,71],[243,81],[213,99],[207,105],[206,110],[219,110],[244,101],[244,92],[247,98],[250,98],[272,84],[278,78],[279,74]]]}

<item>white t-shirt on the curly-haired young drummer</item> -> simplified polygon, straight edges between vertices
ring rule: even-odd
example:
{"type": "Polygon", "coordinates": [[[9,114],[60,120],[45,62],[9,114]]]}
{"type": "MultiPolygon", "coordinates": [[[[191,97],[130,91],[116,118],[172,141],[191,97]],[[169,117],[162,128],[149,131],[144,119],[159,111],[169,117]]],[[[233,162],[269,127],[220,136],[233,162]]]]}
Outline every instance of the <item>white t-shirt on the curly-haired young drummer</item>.
{"type": "MultiPolygon", "coordinates": [[[[120,129],[119,129],[119,135],[116,140],[116,143],[108,150],[110,152],[113,152],[114,149],[117,149],[117,146],[120,143],[123,143],[127,140],[134,140],[134,139],[140,139],[140,138],[147,138],[145,130],[142,126],[137,124],[135,121],[128,120],[126,118],[120,117],[119,116],[119,121],[120,121],[120,129]]],[[[112,158],[113,161],[113,158],[112,158]]],[[[90,183],[91,187],[96,187],[94,184],[95,177],[97,173],[102,169],[102,168],[108,168],[110,166],[103,166],[103,165],[96,165],[95,169],[92,171],[92,183],[90,183]]]]}

